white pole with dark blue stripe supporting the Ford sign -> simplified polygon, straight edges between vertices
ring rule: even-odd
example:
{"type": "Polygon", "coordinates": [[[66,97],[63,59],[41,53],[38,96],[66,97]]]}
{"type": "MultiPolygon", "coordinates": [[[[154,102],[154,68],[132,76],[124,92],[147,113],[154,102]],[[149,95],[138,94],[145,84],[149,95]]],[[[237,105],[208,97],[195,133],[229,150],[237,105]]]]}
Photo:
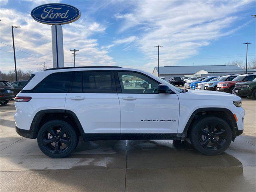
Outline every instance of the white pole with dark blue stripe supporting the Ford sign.
{"type": "Polygon", "coordinates": [[[62,25],[52,25],[52,61],[53,68],[64,67],[62,25]]]}

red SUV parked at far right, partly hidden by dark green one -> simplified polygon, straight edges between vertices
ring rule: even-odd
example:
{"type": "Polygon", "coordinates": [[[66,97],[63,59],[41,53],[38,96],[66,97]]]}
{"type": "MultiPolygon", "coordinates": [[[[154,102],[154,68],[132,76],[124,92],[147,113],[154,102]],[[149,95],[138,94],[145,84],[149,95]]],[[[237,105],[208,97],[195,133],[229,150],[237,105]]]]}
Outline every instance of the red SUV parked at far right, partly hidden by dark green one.
{"type": "Polygon", "coordinates": [[[236,78],[234,78],[232,81],[225,81],[225,82],[218,83],[217,91],[236,94],[234,90],[236,83],[252,81],[254,78],[256,78],[256,73],[239,75],[236,78]]]}

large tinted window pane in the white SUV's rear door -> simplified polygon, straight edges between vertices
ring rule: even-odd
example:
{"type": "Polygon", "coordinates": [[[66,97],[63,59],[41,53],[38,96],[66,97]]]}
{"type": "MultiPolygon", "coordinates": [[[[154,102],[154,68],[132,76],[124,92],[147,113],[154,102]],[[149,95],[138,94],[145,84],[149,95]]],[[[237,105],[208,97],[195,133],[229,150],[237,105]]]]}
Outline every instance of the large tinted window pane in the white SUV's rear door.
{"type": "Polygon", "coordinates": [[[113,76],[111,71],[83,72],[84,93],[112,93],[113,76]]]}

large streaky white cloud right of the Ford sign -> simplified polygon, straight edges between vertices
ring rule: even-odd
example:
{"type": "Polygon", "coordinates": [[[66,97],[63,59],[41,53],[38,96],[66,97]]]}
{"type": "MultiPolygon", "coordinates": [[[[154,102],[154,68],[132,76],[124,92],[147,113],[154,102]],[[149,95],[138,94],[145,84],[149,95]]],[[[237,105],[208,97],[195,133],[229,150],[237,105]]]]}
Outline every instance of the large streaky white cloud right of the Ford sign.
{"type": "Polygon", "coordinates": [[[154,46],[163,46],[160,47],[161,66],[174,65],[194,56],[213,40],[236,31],[230,29],[239,20],[236,14],[246,10],[250,2],[140,0],[134,2],[132,11],[115,14],[115,17],[123,21],[120,33],[140,29],[136,47],[150,62],[139,68],[152,72],[157,65],[157,48],[154,46]]]}

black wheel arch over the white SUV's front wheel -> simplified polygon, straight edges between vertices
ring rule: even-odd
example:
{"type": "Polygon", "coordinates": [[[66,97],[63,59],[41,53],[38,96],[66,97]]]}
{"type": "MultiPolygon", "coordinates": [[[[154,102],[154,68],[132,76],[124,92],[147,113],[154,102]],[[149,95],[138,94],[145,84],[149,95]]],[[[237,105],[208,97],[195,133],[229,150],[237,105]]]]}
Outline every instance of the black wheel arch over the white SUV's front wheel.
{"type": "Polygon", "coordinates": [[[232,140],[234,141],[237,131],[237,123],[233,113],[227,108],[198,108],[196,109],[188,119],[188,122],[183,130],[183,134],[187,137],[190,135],[190,131],[194,122],[202,117],[216,116],[224,119],[232,129],[232,140]]]}

